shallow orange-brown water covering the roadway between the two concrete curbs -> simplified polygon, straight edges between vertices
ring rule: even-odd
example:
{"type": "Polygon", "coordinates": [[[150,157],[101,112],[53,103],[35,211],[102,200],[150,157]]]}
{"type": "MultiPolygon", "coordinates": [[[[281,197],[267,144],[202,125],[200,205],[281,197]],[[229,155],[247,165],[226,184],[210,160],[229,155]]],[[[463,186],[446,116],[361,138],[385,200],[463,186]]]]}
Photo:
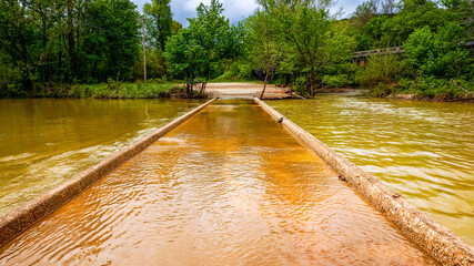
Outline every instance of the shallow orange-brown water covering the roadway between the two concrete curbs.
{"type": "Polygon", "coordinates": [[[435,263],[253,101],[220,100],[4,246],[0,264],[435,263]]]}

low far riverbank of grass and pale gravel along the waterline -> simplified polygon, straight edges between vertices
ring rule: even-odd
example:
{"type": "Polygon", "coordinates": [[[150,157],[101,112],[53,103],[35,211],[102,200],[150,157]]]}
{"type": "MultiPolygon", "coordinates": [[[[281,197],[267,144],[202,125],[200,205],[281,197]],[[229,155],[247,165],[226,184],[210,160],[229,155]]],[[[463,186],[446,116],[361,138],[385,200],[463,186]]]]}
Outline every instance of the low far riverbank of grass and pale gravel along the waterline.
{"type": "MultiPolygon", "coordinates": [[[[246,82],[211,82],[208,83],[205,94],[209,96],[242,98],[260,96],[263,83],[256,81],[246,82]]],[[[436,89],[433,89],[436,90],[436,89]]],[[[422,92],[405,91],[397,84],[376,88],[366,86],[341,86],[322,88],[315,91],[319,93],[350,93],[362,92],[362,94],[379,99],[401,99],[407,101],[428,102],[470,102],[474,103],[473,93],[437,93],[426,95],[422,92]]],[[[98,84],[67,84],[37,88],[32,92],[2,90],[0,99],[8,98],[60,98],[60,99],[189,99],[182,82],[115,82],[98,84]]],[[[193,96],[194,98],[194,96],[193,96]]],[[[198,96],[198,92],[195,98],[198,96]]],[[[291,86],[268,84],[265,99],[289,99],[299,98],[291,86]]]]}

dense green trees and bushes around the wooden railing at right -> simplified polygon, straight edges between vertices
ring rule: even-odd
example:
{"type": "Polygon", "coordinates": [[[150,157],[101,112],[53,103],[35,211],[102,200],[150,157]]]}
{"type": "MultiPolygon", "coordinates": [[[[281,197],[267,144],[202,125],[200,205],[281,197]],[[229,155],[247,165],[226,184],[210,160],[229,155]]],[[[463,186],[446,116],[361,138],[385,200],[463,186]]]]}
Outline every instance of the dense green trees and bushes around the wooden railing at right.
{"type": "MultiPolygon", "coordinates": [[[[371,6],[363,4],[360,10],[367,7],[371,6]]],[[[472,86],[474,66],[464,47],[473,38],[472,1],[403,0],[395,6],[395,13],[383,4],[382,10],[362,29],[357,24],[360,13],[350,20],[357,49],[402,45],[406,59],[401,62],[392,55],[370,58],[356,71],[356,83],[369,85],[379,96],[407,90],[418,96],[455,98],[467,91],[456,82],[472,86]]]]}

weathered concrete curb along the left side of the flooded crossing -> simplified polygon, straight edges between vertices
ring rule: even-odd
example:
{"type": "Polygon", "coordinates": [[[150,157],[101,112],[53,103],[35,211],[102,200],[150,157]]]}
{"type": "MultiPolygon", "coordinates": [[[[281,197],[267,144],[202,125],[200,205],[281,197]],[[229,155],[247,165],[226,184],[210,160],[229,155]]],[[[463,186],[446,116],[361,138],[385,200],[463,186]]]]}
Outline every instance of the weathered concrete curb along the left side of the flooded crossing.
{"type": "Polygon", "coordinates": [[[184,121],[192,117],[194,114],[214,102],[216,99],[218,98],[214,98],[208,101],[206,103],[175,119],[163,127],[160,127],[150,135],[129,145],[122,151],[104,158],[99,164],[93,165],[88,170],[72,176],[44,194],[2,216],[0,218],[0,247],[12,241],[16,236],[28,229],[33,224],[59,209],[69,201],[77,197],[85,188],[91,186],[93,183],[101,180],[108,173],[131,157],[135,156],[145,147],[182,124],[184,121]]]}

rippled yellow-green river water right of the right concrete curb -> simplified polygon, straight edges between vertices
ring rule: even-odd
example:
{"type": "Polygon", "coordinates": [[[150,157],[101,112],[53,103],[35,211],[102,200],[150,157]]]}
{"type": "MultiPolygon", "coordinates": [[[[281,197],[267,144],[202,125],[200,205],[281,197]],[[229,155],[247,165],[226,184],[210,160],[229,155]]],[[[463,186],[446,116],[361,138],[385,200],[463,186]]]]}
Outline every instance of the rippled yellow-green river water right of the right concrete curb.
{"type": "Polygon", "coordinates": [[[269,104],[474,244],[474,104],[341,94],[269,104]]]}

